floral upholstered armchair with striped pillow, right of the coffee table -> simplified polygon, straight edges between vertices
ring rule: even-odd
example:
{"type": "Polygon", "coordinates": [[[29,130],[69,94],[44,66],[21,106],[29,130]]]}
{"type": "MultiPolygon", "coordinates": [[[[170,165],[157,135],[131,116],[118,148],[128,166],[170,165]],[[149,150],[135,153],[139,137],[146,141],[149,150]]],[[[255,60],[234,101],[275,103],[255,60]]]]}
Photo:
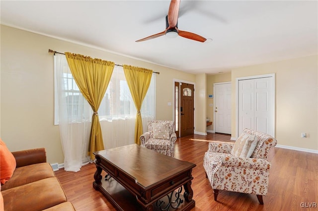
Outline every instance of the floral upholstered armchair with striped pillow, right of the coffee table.
{"type": "Polygon", "coordinates": [[[219,190],[256,194],[259,204],[267,195],[271,147],[277,144],[272,136],[244,129],[235,143],[210,142],[203,158],[206,176],[217,201],[219,190]]]}

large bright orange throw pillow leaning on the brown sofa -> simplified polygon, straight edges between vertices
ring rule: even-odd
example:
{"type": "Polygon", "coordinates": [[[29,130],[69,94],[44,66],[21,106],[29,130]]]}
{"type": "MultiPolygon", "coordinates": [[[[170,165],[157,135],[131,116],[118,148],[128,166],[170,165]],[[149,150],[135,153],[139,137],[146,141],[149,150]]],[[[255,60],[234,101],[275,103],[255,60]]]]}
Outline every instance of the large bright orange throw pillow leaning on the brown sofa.
{"type": "Polygon", "coordinates": [[[0,182],[1,185],[8,181],[16,167],[15,158],[5,143],[0,139],[0,182]]]}

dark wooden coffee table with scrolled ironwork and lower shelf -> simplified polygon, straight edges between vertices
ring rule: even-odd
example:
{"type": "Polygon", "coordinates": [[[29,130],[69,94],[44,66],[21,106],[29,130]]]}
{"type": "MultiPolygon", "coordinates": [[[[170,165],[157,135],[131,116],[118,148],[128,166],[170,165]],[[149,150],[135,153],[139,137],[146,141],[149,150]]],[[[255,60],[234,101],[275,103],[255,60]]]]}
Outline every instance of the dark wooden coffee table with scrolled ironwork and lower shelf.
{"type": "Polygon", "coordinates": [[[137,144],[94,152],[94,155],[97,169],[93,187],[117,210],[156,211],[170,206],[170,211],[189,211],[195,207],[191,189],[194,163],[137,144]],[[102,170],[111,178],[103,178],[102,170]]]}

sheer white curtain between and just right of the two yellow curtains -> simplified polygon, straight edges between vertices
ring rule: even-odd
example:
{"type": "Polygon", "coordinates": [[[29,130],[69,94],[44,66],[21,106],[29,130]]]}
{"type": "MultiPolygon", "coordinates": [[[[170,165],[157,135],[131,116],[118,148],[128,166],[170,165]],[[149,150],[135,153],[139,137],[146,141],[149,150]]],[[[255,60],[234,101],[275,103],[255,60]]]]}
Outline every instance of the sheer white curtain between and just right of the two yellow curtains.
{"type": "MultiPolygon", "coordinates": [[[[144,131],[148,130],[148,121],[155,118],[155,81],[156,76],[153,74],[141,110],[144,131]]],[[[128,88],[123,67],[115,66],[98,113],[105,149],[135,143],[137,110],[128,88]]]]}

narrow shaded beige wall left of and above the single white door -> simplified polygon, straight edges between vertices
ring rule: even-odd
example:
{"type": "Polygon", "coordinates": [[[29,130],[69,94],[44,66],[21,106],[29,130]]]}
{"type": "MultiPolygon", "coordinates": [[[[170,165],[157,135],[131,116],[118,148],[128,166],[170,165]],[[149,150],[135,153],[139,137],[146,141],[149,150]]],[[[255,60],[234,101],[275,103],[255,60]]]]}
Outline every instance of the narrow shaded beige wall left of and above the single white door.
{"type": "MultiPolygon", "coordinates": [[[[207,117],[210,118],[210,121],[213,122],[214,118],[214,98],[208,98],[208,95],[213,95],[214,88],[213,84],[215,83],[222,83],[222,82],[231,82],[231,72],[221,73],[217,75],[207,75],[207,117]],[[212,107],[209,104],[213,104],[212,107]]],[[[212,125],[207,127],[208,131],[214,131],[214,122],[212,125]]]]}

